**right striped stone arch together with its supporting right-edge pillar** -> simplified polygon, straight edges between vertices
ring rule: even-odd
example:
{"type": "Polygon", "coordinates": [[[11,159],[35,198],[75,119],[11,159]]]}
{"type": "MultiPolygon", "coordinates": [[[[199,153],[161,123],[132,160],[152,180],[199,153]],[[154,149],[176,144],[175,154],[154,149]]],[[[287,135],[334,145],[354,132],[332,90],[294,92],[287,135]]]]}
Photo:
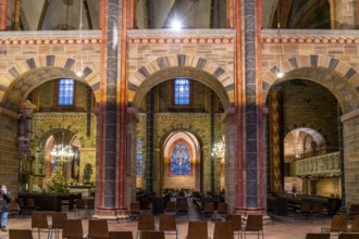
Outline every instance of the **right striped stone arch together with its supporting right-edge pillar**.
{"type": "MultiPolygon", "coordinates": [[[[358,144],[359,140],[356,136],[358,126],[355,121],[359,117],[359,95],[358,95],[358,79],[359,75],[350,67],[350,65],[339,60],[329,58],[325,55],[307,55],[288,59],[283,62],[285,68],[285,76],[277,78],[275,73],[278,66],[274,66],[270,72],[263,75],[263,104],[268,100],[269,91],[276,84],[288,79],[306,79],[317,83],[326,88],[337,100],[343,115],[341,122],[343,123],[343,155],[342,163],[342,180],[345,185],[343,190],[343,205],[358,203],[355,197],[355,191],[358,187],[354,184],[352,178],[358,176],[359,167],[352,166],[356,161],[355,152],[359,150],[352,149],[350,146],[358,144]],[[351,166],[348,166],[351,165],[351,166]]],[[[273,146],[270,146],[273,148],[273,146]]]]}

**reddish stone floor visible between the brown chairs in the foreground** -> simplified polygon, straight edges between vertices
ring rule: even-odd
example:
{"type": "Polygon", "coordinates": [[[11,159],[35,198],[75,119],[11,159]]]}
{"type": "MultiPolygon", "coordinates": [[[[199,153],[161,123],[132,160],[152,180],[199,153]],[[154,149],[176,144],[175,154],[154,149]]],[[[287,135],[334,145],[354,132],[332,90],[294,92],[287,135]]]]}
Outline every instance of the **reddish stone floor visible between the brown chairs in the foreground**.
{"type": "MultiPolygon", "coordinates": [[[[82,218],[84,232],[87,232],[88,217],[85,216],[85,212],[79,212],[79,215],[72,211],[67,211],[69,218],[82,218]]],[[[189,210],[188,218],[186,215],[177,216],[177,226],[180,230],[178,239],[186,238],[188,221],[199,221],[200,217],[197,211],[191,207],[189,210]]],[[[49,223],[51,217],[48,217],[49,223]]],[[[158,226],[158,216],[156,216],[156,223],[158,226]]],[[[264,238],[265,239],[305,239],[307,232],[320,232],[322,227],[329,227],[331,224],[330,217],[312,218],[301,217],[289,214],[288,216],[270,216],[264,222],[264,238]]],[[[20,216],[10,217],[8,222],[8,229],[11,228],[29,228],[30,229],[30,217],[20,216]]],[[[212,235],[214,228],[214,222],[208,221],[209,236],[212,235]]],[[[134,238],[137,235],[137,222],[112,222],[109,221],[109,230],[131,230],[133,231],[134,238]]],[[[33,232],[34,238],[38,238],[37,232],[33,232]]],[[[40,238],[48,238],[47,232],[41,232],[40,238]]],[[[175,238],[175,236],[168,235],[166,238],[175,238]]],[[[235,236],[237,238],[237,236],[235,236]]],[[[257,238],[257,235],[248,235],[246,238],[257,238]]],[[[336,239],[337,236],[332,236],[331,239],[336,239]]],[[[0,231],[0,239],[9,239],[9,232],[0,231]]]]}

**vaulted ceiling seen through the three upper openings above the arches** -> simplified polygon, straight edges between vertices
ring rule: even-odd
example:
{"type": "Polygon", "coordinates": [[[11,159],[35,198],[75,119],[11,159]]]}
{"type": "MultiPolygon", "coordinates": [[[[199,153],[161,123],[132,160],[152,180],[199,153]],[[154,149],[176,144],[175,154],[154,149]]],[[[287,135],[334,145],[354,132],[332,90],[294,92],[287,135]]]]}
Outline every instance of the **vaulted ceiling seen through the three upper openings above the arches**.
{"type": "MultiPolygon", "coordinates": [[[[9,0],[9,18],[14,0],[9,0]]],[[[100,0],[22,0],[20,29],[98,29],[100,0]]],[[[135,0],[138,29],[169,28],[174,20],[184,28],[226,28],[227,0],[135,0]]],[[[327,0],[263,0],[263,27],[330,28],[327,0]]],[[[10,21],[11,22],[11,21],[10,21]]],[[[13,25],[13,24],[12,24],[13,25]]]]}

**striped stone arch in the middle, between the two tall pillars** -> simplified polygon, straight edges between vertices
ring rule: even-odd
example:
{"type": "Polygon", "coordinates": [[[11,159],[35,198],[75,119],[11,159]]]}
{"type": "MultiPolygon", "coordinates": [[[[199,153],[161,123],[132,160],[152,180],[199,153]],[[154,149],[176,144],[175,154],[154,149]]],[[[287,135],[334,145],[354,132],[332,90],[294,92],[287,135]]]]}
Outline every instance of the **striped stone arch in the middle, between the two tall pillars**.
{"type": "Polygon", "coordinates": [[[225,108],[234,102],[234,79],[231,74],[216,63],[185,54],[158,58],[131,75],[128,102],[139,105],[149,89],[175,77],[187,77],[207,85],[216,92],[225,108]]]}

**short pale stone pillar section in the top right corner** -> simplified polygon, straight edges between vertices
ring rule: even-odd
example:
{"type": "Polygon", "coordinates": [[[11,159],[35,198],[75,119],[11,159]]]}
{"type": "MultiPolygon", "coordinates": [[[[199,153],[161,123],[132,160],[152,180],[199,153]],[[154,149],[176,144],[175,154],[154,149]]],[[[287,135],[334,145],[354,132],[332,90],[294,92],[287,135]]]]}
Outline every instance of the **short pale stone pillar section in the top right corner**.
{"type": "Polygon", "coordinates": [[[330,3],[331,13],[334,12],[335,29],[358,28],[358,8],[355,8],[357,0],[331,0],[330,3]]]}

